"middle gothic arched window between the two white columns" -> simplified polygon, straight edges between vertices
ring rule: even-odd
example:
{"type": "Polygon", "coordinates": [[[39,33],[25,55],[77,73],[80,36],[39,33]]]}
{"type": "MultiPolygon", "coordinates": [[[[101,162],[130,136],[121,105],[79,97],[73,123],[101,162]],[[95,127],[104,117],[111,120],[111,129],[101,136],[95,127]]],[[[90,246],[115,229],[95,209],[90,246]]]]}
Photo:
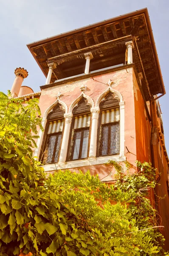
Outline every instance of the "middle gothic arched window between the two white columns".
{"type": "Polygon", "coordinates": [[[70,138],[70,149],[68,160],[78,160],[88,157],[89,151],[89,127],[90,127],[90,105],[82,98],[78,105],[73,108],[72,134],[70,138]]]}

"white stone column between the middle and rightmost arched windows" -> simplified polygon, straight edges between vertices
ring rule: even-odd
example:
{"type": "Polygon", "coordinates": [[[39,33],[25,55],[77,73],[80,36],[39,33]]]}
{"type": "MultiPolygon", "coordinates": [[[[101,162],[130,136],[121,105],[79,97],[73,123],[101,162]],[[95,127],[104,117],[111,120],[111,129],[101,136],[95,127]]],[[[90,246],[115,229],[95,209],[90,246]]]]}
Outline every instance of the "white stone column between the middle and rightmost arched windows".
{"type": "Polygon", "coordinates": [[[90,149],[89,149],[89,160],[96,160],[96,148],[97,148],[97,129],[98,129],[98,119],[99,111],[98,107],[90,109],[92,113],[92,127],[90,135],[90,149]]]}

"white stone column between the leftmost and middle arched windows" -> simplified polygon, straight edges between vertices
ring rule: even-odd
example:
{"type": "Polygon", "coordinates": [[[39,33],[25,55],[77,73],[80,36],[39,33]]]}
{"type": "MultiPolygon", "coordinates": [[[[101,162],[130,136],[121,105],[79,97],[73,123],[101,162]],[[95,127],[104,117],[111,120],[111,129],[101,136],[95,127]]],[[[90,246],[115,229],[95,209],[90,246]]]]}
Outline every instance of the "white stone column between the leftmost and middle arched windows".
{"type": "Polygon", "coordinates": [[[59,156],[59,163],[58,163],[59,165],[65,164],[65,162],[66,162],[72,116],[73,116],[72,113],[68,113],[68,114],[64,115],[65,128],[64,128],[64,132],[63,132],[62,145],[61,145],[61,149],[60,149],[60,156],[59,156]]]}

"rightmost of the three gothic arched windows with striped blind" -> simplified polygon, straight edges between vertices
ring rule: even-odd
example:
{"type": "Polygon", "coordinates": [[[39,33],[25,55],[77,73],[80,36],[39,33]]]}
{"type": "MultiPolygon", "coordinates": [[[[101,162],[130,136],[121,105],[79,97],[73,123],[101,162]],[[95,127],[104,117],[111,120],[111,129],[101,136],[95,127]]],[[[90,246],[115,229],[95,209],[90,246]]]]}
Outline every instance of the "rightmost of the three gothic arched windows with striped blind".
{"type": "Polygon", "coordinates": [[[120,111],[118,99],[108,93],[101,101],[98,141],[98,156],[119,154],[120,152],[120,111]]]}

